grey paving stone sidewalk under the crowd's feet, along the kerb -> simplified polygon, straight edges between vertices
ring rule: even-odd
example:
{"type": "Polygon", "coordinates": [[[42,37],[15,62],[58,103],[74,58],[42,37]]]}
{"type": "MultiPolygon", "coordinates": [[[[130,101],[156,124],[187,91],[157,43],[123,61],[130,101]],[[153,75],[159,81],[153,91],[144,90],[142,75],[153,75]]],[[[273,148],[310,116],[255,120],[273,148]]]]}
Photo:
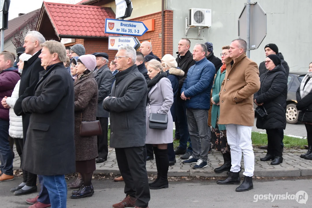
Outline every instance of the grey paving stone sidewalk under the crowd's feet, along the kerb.
{"type": "MultiPolygon", "coordinates": [[[[266,155],[266,150],[254,148],[255,153],[255,172],[254,176],[259,177],[283,177],[283,176],[312,176],[312,160],[305,160],[299,157],[300,154],[305,153],[306,150],[284,150],[284,161],[280,165],[270,165],[271,161],[262,162],[261,157],[266,155]]],[[[15,154],[17,156],[17,153],[15,154]]],[[[214,168],[223,164],[223,157],[221,152],[212,150],[212,153],[208,154],[208,167],[202,170],[193,170],[193,165],[184,165],[183,160],[180,157],[176,157],[176,164],[169,166],[168,176],[202,176],[202,177],[219,177],[227,176],[226,172],[215,173],[214,168]]],[[[241,160],[241,166],[244,170],[243,158],[241,160]]],[[[20,158],[15,157],[13,161],[13,169],[19,169],[20,158]]],[[[146,169],[148,173],[157,174],[155,159],[146,162],[146,169]]],[[[119,174],[117,165],[115,149],[109,148],[108,160],[104,163],[96,164],[96,171],[101,173],[114,173],[119,174]]],[[[241,174],[242,176],[242,174],[241,174]]]]}

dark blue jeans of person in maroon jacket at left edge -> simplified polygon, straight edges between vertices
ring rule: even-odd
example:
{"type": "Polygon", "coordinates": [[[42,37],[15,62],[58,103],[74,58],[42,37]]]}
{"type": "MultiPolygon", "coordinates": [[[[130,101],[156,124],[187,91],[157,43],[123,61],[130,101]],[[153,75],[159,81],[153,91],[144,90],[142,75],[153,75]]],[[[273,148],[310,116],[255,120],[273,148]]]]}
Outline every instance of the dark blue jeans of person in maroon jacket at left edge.
{"type": "Polygon", "coordinates": [[[0,119],[0,170],[13,176],[13,155],[9,143],[9,121],[0,119]]]}

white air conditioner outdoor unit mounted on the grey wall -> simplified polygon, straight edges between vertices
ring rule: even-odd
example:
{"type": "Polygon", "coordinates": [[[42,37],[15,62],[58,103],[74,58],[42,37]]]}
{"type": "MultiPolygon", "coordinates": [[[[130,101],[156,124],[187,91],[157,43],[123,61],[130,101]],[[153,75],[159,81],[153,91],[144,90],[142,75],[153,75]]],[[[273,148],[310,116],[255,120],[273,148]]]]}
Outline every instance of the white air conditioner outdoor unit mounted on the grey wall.
{"type": "Polygon", "coordinates": [[[211,9],[189,9],[188,26],[211,27],[211,9]]]}

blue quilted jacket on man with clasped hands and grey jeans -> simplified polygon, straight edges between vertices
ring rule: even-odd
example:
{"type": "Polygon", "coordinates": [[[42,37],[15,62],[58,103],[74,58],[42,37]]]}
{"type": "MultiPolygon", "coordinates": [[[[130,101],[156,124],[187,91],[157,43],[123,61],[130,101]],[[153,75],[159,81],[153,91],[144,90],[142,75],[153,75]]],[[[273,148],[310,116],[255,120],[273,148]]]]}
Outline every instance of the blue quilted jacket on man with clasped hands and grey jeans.
{"type": "Polygon", "coordinates": [[[215,66],[206,58],[195,61],[195,65],[188,70],[183,82],[181,93],[184,92],[186,107],[192,109],[210,109],[210,93],[213,78],[216,74],[215,66]]]}

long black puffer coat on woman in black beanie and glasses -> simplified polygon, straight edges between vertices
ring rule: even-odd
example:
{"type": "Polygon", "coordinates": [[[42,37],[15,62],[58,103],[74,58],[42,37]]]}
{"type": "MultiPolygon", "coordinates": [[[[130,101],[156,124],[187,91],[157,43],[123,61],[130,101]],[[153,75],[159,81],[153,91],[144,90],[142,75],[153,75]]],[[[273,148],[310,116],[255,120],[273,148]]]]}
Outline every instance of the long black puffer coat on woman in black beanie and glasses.
{"type": "Polygon", "coordinates": [[[257,103],[263,103],[267,111],[264,119],[257,118],[256,126],[261,129],[285,129],[287,78],[283,65],[267,70],[260,77],[261,86],[254,94],[257,103]]]}

